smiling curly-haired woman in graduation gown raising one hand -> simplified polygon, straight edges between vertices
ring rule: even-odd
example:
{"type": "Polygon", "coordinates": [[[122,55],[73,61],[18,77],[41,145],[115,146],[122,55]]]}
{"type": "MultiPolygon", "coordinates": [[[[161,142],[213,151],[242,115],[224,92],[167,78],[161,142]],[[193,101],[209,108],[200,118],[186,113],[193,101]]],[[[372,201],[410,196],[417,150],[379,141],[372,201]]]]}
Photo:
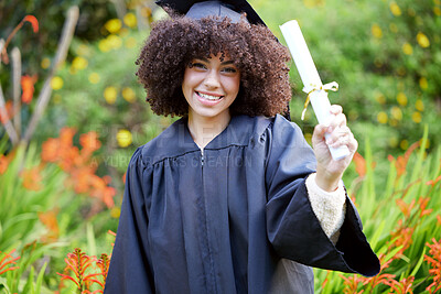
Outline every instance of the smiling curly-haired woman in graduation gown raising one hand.
{"type": "Polygon", "coordinates": [[[152,110],[183,118],[130,161],[105,293],[313,293],[309,266],[379,271],[341,181],[342,108],[312,150],[278,115],[287,48],[230,8],[158,22],[137,61],[152,110]]]}

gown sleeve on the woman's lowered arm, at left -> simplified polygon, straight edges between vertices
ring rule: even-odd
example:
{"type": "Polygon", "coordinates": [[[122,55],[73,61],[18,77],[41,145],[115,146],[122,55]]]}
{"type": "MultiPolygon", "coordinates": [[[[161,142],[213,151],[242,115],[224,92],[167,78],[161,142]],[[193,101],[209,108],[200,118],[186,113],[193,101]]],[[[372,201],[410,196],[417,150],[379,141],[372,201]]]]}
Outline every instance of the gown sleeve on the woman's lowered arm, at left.
{"type": "Polygon", "coordinates": [[[146,209],[146,177],[149,172],[139,148],[130,160],[119,218],[117,238],[110,259],[105,294],[153,293],[153,275],[149,266],[146,209]]]}

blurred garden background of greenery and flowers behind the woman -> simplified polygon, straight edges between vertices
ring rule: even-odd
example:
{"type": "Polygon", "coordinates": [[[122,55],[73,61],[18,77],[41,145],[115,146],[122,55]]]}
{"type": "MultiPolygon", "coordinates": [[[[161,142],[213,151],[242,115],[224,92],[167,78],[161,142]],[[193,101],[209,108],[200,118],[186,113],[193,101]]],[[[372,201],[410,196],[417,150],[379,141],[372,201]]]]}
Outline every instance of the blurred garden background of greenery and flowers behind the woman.
{"type": "MultiPolygon", "coordinates": [[[[441,1],[249,2],[282,43],[279,25],[299,21],[359,142],[344,179],[383,275],[318,270],[316,293],[435,293],[441,1]]],[[[0,293],[103,290],[130,156],[176,119],[151,112],[135,76],[161,18],[150,0],[0,2],[0,293]]],[[[310,141],[290,66],[291,118],[310,141]]]]}

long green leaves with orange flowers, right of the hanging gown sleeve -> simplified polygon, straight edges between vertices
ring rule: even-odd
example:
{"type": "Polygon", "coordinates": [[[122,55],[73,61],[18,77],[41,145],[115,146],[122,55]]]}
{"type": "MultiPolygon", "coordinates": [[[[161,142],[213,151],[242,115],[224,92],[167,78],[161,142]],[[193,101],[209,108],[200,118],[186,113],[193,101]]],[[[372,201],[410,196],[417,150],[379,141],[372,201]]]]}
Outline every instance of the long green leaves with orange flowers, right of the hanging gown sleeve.
{"type": "Polygon", "coordinates": [[[426,140],[427,132],[418,153],[409,150],[397,159],[389,156],[386,184],[379,184],[385,175],[372,167],[373,154],[366,140],[366,174],[346,184],[352,183],[347,185],[348,195],[355,199],[364,232],[380,257],[383,270],[373,279],[315,270],[318,293],[353,293],[344,292],[349,287],[343,276],[356,281],[353,291],[390,293],[387,283],[404,284],[404,279],[415,279],[411,287],[415,293],[428,293],[424,291],[433,275],[424,261],[427,243],[432,243],[432,238],[440,241],[441,236],[441,148],[428,155],[423,148],[426,140]]]}

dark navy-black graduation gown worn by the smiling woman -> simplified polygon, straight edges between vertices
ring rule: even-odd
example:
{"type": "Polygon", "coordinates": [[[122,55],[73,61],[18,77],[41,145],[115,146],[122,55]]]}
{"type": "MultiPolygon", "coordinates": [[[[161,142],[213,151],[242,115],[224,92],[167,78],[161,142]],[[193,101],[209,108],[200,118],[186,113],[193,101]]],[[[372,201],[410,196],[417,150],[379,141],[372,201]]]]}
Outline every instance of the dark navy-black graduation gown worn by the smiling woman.
{"type": "Polygon", "coordinates": [[[304,184],[314,171],[281,116],[235,116],[203,154],[174,122],[130,161],[105,293],[313,293],[302,264],[377,274],[347,197],[336,246],[322,230],[304,184]]]}

